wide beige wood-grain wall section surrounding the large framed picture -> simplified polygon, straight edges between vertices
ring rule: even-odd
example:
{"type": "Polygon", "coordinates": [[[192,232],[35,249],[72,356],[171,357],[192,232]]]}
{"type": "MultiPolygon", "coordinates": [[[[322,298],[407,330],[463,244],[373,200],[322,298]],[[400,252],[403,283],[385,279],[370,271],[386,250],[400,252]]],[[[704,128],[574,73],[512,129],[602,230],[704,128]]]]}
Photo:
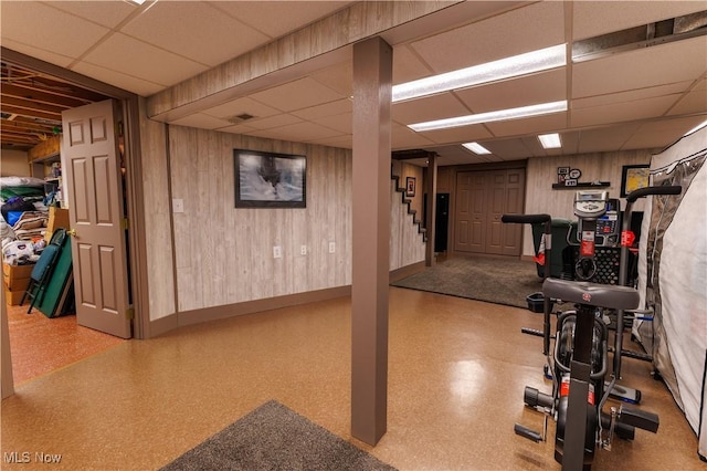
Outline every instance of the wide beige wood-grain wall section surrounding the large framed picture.
{"type": "Polygon", "coordinates": [[[173,214],[179,311],[351,283],[350,150],[180,126],[169,134],[172,197],[184,203],[173,214]],[[236,209],[234,148],[306,155],[307,208],[236,209]]]}

